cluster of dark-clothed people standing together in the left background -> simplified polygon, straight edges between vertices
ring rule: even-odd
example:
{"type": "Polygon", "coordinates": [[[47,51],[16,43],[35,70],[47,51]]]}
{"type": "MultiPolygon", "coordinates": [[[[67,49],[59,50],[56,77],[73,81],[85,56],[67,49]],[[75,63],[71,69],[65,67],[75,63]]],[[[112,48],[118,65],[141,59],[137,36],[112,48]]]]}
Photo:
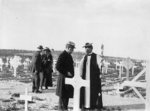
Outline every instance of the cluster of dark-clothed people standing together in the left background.
{"type": "Polygon", "coordinates": [[[52,72],[53,72],[53,57],[51,50],[43,46],[38,46],[37,51],[33,54],[31,62],[32,72],[32,92],[42,93],[43,86],[48,89],[52,86],[52,72]]]}

